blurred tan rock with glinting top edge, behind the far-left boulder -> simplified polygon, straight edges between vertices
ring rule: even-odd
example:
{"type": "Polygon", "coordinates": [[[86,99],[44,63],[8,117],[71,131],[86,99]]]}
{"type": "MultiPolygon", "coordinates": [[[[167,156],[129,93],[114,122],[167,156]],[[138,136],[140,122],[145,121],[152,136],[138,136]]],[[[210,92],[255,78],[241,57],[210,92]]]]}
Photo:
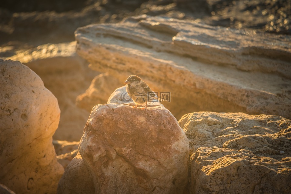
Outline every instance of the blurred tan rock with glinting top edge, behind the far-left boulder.
{"type": "Polygon", "coordinates": [[[0,52],[10,52],[6,59],[18,60],[40,76],[45,87],[58,99],[61,117],[53,136],[57,140],[79,141],[91,111],[77,107],[75,100],[98,73],[88,68],[88,62],[76,54],[75,47],[76,42],[45,44],[31,49],[0,48],[0,52]]]}

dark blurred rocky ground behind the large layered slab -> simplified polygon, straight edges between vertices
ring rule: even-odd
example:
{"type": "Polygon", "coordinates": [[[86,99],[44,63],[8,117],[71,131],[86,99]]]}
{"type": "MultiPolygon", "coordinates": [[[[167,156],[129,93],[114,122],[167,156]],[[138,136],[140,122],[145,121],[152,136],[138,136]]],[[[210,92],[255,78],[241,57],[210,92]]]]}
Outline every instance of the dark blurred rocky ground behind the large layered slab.
{"type": "Polygon", "coordinates": [[[80,26],[119,22],[140,14],[291,34],[290,0],[4,0],[0,5],[0,45],[23,48],[73,41],[73,32],[80,26]]]}

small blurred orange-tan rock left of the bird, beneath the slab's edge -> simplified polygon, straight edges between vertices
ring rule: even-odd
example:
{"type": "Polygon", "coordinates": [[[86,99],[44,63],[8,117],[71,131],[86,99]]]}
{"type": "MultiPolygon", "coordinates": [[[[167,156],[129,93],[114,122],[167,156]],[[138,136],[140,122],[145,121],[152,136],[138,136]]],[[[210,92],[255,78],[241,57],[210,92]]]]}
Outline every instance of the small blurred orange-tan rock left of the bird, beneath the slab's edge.
{"type": "Polygon", "coordinates": [[[106,103],[108,97],[120,85],[122,83],[118,79],[108,73],[102,73],[92,80],[85,93],[77,96],[76,105],[91,112],[95,105],[106,103]]]}

